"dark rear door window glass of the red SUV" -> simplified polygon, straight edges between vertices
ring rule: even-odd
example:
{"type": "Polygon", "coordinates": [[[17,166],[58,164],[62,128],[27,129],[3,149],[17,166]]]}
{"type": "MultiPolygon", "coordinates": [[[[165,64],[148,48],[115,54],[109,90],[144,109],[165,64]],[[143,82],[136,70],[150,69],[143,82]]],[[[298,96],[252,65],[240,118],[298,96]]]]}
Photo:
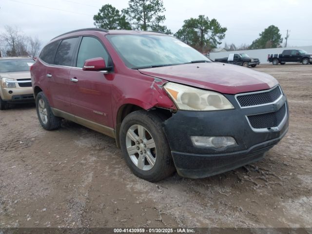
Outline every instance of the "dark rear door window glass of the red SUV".
{"type": "Polygon", "coordinates": [[[74,56],[75,46],[78,38],[64,39],[60,42],[57,54],[54,59],[54,64],[71,66],[74,56]]]}

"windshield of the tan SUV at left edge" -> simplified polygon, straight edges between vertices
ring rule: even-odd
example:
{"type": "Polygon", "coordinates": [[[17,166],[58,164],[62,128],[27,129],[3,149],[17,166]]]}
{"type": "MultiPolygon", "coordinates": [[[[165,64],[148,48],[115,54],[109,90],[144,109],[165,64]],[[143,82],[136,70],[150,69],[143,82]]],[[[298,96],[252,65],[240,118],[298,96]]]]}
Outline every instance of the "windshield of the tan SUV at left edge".
{"type": "Polygon", "coordinates": [[[34,62],[33,59],[0,59],[0,72],[29,71],[34,62]]]}

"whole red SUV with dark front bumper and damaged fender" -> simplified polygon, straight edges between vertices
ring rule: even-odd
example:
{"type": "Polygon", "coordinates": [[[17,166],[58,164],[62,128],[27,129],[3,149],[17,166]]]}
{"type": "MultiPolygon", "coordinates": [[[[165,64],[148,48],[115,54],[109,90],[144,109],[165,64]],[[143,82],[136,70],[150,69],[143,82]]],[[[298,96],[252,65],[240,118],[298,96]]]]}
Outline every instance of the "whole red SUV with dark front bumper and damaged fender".
{"type": "Polygon", "coordinates": [[[201,178],[263,158],[288,130],[272,76],[212,62],[174,37],[81,29],[31,67],[42,127],[69,119],[116,139],[133,173],[201,178]]]}

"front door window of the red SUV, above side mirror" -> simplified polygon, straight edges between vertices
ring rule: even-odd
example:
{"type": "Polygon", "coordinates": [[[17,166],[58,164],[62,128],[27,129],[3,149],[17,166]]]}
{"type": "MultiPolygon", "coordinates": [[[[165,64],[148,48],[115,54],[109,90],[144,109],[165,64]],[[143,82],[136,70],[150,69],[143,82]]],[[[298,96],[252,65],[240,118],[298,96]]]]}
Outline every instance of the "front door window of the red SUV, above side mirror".
{"type": "Polygon", "coordinates": [[[98,39],[92,37],[83,37],[80,43],[77,67],[83,67],[85,60],[101,57],[108,62],[108,54],[98,39]]]}

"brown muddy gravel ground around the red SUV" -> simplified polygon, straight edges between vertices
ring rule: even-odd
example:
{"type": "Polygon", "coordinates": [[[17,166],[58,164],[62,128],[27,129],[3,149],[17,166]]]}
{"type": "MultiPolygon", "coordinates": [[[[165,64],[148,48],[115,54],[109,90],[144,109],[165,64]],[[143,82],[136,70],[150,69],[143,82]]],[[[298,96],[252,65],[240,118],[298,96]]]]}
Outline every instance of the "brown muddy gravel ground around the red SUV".
{"type": "MultiPolygon", "coordinates": [[[[253,69],[253,68],[250,68],[253,69]]],[[[205,179],[134,176],[114,139],[35,106],[0,111],[0,227],[312,227],[312,65],[260,65],[290,106],[262,161],[205,179]]]]}

